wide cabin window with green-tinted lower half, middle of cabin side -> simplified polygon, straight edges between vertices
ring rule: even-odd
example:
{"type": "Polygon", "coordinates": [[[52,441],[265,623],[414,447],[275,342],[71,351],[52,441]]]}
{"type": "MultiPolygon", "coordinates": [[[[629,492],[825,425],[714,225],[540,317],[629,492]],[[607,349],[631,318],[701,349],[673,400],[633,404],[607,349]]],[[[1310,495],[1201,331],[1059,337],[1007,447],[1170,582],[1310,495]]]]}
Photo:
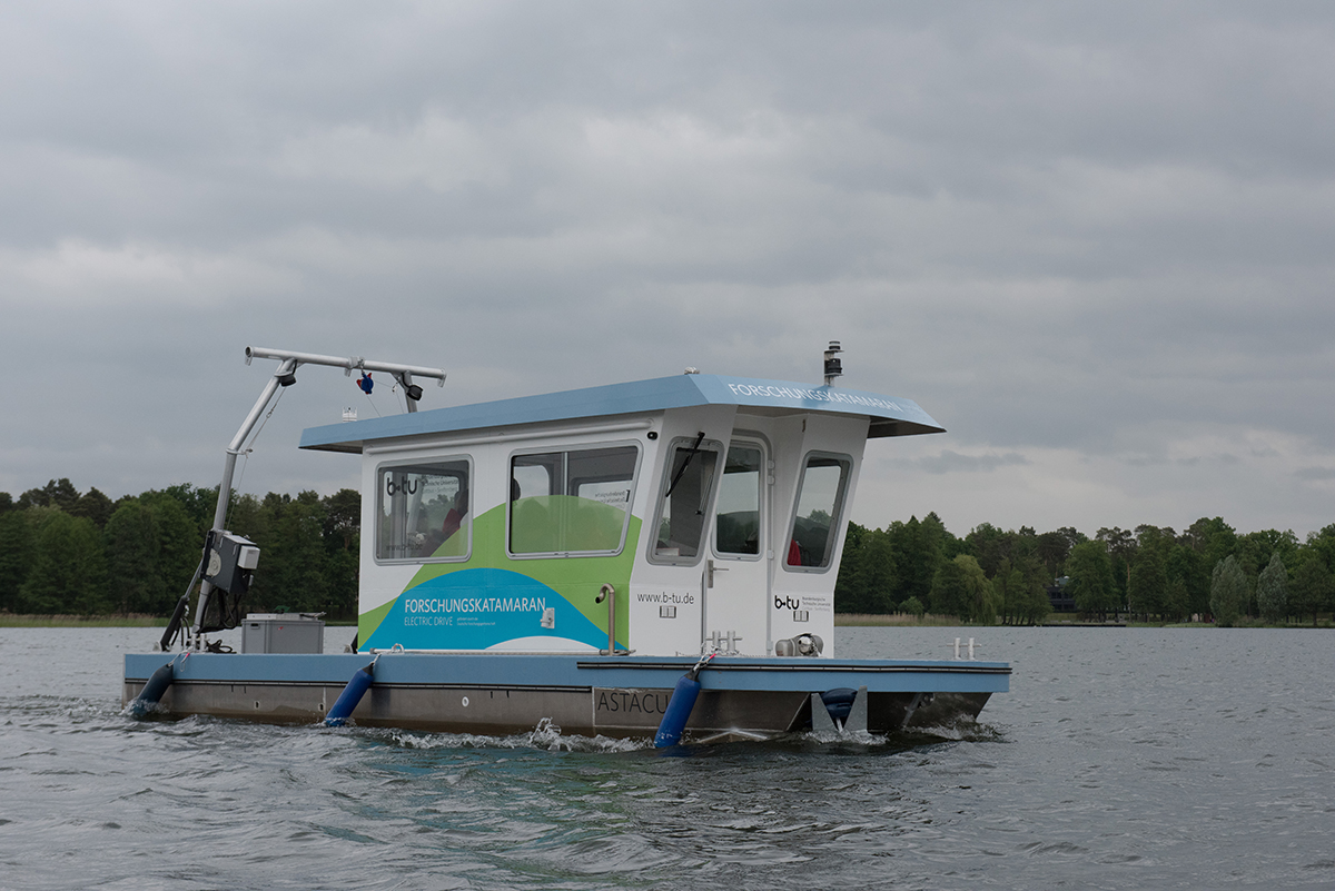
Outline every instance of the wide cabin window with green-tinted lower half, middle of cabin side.
{"type": "Polygon", "coordinates": [[[619,554],[635,490],[635,446],[510,459],[510,554],[619,554]]]}

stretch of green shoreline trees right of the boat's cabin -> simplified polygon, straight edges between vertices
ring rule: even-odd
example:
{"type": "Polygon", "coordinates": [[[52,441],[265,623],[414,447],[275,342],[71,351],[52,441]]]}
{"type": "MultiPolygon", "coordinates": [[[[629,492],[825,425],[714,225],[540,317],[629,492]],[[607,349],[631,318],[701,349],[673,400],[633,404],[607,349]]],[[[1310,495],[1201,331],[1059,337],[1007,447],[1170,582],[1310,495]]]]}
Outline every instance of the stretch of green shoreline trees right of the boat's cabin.
{"type": "Polygon", "coordinates": [[[1239,534],[1222,518],[1171,527],[1071,527],[1039,534],[981,523],[956,538],[936,514],[884,530],[849,524],[836,604],[844,612],[951,615],[1032,624],[1053,598],[1087,618],[1234,626],[1307,620],[1335,610],[1335,524],[1239,534]]]}

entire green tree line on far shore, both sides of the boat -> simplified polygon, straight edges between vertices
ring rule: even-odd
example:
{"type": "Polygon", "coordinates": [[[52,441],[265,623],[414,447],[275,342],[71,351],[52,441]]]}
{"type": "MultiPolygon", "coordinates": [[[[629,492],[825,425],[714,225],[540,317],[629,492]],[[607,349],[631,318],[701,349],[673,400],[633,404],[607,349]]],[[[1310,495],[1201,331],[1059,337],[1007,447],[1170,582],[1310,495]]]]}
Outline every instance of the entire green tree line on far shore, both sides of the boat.
{"type": "MultiPolygon", "coordinates": [[[[167,615],[199,564],[218,488],[191,484],[117,500],[68,479],[17,499],[0,492],[0,611],[167,615]]],[[[236,495],[227,528],[260,546],[247,608],[356,616],[360,495],[236,495]]],[[[850,523],[836,583],[840,612],[1033,624],[1049,591],[1085,616],[1144,620],[1311,619],[1335,608],[1335,524],[1239,534],[1220,518],[1168,527],[1039,534],[983,523],[963,538],[936,514],[884,530],[850,523]]]]}

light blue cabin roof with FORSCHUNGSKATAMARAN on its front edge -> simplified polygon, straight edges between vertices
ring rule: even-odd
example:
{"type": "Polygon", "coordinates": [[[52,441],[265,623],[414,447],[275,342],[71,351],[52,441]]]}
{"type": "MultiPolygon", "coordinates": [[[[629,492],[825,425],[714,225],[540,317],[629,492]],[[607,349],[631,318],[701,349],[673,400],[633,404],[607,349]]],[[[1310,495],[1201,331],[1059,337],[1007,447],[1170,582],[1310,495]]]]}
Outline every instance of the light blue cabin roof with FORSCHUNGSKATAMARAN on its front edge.
{"type": "Polygon", "coordinates": [[[405,436],[614,417],[694,405],[737,405],[750,413],[768,415],[796,412],[862,415],[870,419],[869,437],[945,432],[944,427],[910,399],[857,389],[812,387],[788,380],[673,375],[627,384],[586,387],[542,396],[521,396],[311,427],[302,433],[300,447],[330,452],[360,452],[368,443],[405,436]]]}

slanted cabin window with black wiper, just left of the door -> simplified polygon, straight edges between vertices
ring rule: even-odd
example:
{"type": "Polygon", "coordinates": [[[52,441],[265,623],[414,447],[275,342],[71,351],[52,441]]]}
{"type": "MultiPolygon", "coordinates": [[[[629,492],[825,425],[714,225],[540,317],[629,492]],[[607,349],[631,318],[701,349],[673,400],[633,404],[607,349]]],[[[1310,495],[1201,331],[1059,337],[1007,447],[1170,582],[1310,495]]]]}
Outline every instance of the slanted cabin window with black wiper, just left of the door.
{"type": "Polygon", "coordinates": [[[672,443],[672,459],[663,472],[654,516],[657,535],[649,554],[655,563],[696,563],[700,559],[718,467],[718,443],[705,443],[704,437],[701,433],[672,443]]]}

